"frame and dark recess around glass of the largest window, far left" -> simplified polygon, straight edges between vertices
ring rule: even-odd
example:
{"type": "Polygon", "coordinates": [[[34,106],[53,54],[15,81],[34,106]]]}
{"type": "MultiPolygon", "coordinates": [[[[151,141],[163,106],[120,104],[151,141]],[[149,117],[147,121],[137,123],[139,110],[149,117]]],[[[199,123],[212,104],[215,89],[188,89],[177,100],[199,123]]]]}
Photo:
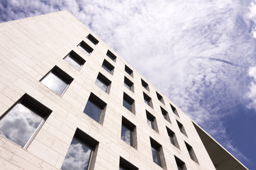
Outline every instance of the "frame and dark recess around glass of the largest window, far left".
{"type": "MultiPolygon", "coordinates": [[[[40,103],[39,101],[37,101],[35,98],[29,96],[28,94],[24,94],[18,101],[16,101],[9,109],[7,109],[7,111],[2,114],[0,116],[0,123],[5,119],[5,117],[7,117],[19,104],[25,106],[26,108],[28,108],[30,111],[34,112],[35,114],[37,114],[38,116],[42,117],[43,120],[41,123],[39,123],[39,125],[37,126],[36,130],[33,132],[33,134],[31,134],[30,138],[28,139],[28,141],[26,142],[26,144],[22,147],[24,149],[27,149],[30,145],[30,143],[35,139],[37,133],[39,132],[39,130],[42,128],[43,124],[45,123],[45,121],[47,120],[47,118],[50,116],[50,114],[52,113],[52,110],[48,107],[46,107],[45,105],[43,105],[42,103],[40,103]]],[[[2,136],[2,135],[1,135],[2,136]]],[[[2,136],[3,137],[3,136],[2,136]]],[[[3,137],[5,138],[5,137],[3,137]]],[[[9,138],[5,138],[7,140],[12,141],[9,138]]],[[[16,143],[14,141],[12,141],[13,143],[16,143]]],[[[16,143],[16,145],[19,145],[18,143],[16,143]]],[[[19,145],[20,146],[20,145],[19,145]]]]}

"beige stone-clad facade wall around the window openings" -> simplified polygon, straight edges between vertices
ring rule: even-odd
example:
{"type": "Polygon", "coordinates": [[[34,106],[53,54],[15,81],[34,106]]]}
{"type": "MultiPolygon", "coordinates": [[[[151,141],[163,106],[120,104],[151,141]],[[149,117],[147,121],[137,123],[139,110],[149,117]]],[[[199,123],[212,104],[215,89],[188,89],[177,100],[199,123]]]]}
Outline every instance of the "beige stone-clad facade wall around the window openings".
{"type": "Polygon", "coordinates": [[[163,147],[164,169],[177,168],[174,155],[187,169],[215,169],[190,118],[157,91],[164,97],[163,105],[152,84],[68,11],[1,23],[0,39],[0,115],[24,94],[53,111],[27,149],[0,136],[1,169],[60,169],[77,128],[99,141],[94,169],[118,169],[120,156],[139,169],[163,169],[153,162],[149,137],[163,147]],[[100,41],[97,46],[86,39],[89,33],[100,41]],[[90,56],[77,47],[82,40],[94,49],[90,56]],[[108,49],[117,56],[116,62],[106,56],[108,49]],[[79,71],[63,60],[71,50],[86,61],[79,71]],[[115,67],[113,75],[101,67],[104,59],[115,67]],[[39,81],[55,65],[74,78],[62,97],[39,81]],[[133,78],[124,71],[125,65],[133,70],[133,78]],[[109,94],[94,84],[99,72],[111,81],[109,94]],[[124,76],[134,83],[134,92],[124,86],[124,76]],[[150,92],[141,86],[141,78],[150,92]],[[107,103],[102,124],[83,113],[91,92],[107,103]],[[135,115],[123,107],[123,92],[135,100],[135,115]],[[144,103],[143,92],[151,97],[154,109],[144,103]],[[159,106],[168,112],[171,123],[164,120],[159,106]],[[156,117],[159,133],[147,125],[146,109],[156,117]],[[121,140],[122,116],[137,126],[137,149],[121,140]],[[188,137],[179,131],[176,120],[188,137]],[[175,132],[180,149],[170,143],[166,126],[175,132]],[[199,164],[190,159],[184,141],[193,147],[199,164]]]}

